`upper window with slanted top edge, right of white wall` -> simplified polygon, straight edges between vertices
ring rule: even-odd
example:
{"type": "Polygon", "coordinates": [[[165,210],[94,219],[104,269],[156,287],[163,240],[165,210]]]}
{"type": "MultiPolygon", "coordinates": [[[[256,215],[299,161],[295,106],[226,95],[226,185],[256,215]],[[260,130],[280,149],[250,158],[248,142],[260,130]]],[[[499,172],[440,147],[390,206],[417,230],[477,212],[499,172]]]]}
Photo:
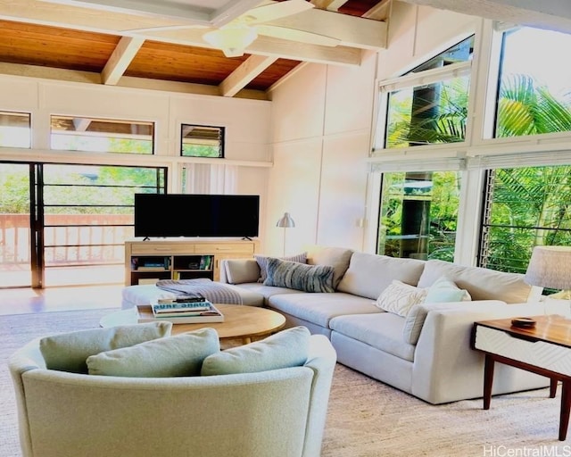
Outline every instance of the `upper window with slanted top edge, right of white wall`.
{"type": "Polygon", "coordinates": [[[378,125],[385,148],[456,143],[466,138],[470,61],[474,37],[438,54],[407,73],[385,82],[378,125]]]}

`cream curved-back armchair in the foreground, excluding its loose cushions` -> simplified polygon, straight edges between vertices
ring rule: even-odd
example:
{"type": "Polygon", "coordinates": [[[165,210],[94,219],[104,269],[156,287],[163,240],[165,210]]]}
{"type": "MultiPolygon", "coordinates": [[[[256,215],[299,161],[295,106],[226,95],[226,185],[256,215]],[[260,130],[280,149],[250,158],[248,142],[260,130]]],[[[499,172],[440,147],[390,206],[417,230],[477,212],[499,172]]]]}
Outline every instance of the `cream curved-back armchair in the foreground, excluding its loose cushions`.
{"type": "Polygon", "coordinates": [[[318,457],[335,350],[304,366],[192,378],[46,370],[34,340],[10,361],[24,457],[318,457]]]}

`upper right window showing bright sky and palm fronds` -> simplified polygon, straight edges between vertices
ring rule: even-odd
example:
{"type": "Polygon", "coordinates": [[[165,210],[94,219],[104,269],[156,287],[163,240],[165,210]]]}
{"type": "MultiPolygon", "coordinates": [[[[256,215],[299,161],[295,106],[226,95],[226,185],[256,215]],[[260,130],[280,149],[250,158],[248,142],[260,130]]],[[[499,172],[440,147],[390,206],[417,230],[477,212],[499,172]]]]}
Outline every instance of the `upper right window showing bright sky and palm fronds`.
{"type": "Polygon", "coordinates": [[[571,68],[555,51],[569,46],[565,33],[504,32],[495,137],[571,130],[571,68]]]}

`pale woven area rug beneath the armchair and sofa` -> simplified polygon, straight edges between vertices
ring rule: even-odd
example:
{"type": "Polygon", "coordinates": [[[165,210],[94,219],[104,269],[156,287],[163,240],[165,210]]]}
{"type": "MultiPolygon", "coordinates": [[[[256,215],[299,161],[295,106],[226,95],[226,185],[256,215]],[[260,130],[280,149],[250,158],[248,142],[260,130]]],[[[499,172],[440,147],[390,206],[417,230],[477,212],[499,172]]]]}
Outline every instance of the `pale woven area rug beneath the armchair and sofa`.
{"type": "MultiPolygon", "coordinates": [[[[0,316],[0,457],[21,457],[9,355],[34,337],[94,328],[112,311],[0,316]]],[[[560,392],[548,395],[495,396],[489,411],[481,399],[434,406],[337,364],[321,456],[571,455],[571,439],[557,439],[560,392]]]]}

